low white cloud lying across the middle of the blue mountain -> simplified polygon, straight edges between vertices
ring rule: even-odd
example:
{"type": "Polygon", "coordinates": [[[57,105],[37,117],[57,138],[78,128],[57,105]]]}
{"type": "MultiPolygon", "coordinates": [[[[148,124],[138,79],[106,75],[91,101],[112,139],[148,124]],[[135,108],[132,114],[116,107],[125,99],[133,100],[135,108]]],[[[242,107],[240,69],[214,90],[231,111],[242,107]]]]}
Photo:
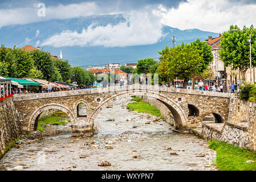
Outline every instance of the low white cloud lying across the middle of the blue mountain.
{"type": "Polygon", "coordinates": [[[91,24],[82,32],[63,31],[44,40],[41,46],[104,46],[125,47],[156,43],[162,36],[160,19],[152,11],[124,14],[125,22],[116,25],[91,24]]]}

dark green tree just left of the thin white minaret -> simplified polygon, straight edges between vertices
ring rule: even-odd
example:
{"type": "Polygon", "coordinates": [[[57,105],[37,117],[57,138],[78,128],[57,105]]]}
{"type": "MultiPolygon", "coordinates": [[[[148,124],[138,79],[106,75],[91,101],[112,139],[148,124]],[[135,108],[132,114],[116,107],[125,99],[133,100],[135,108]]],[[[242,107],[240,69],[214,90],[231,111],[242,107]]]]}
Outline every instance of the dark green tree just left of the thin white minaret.
{"type": "Polygon", "coordinates": [[[43,73],[43,78],[45,80],[55,81],[56,75],[54,74],[56,74],[56,71],[50,53],[43,51],[43,49],[36,49],[29,53],[32,56],[32,59],[34,59],[36,69],[43,73]]]}

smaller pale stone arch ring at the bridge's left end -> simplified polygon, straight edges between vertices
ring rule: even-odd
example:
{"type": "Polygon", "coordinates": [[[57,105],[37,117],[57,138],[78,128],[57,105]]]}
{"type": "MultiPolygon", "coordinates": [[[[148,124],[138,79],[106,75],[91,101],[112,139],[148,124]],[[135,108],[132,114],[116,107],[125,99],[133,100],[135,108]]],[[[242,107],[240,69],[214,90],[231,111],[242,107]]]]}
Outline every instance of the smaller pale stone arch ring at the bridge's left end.
{"type": "Polygon", "coordinates": [[[43,113],[43,111],[50,110],[50,109],[57,109],[61,110],[64,113],[70,117],[71,122],[76,122],[76,117],[74,117],[74,114],[68,109],[68,107],[60,105],[60,104],[46,104],[41,107],[38,107],[32,114],[29,119],[29,125],[27,127],[27,131],[34,131],[35,126],[37,126],[38,119],[40,117],[40,114],[43,113]]]}

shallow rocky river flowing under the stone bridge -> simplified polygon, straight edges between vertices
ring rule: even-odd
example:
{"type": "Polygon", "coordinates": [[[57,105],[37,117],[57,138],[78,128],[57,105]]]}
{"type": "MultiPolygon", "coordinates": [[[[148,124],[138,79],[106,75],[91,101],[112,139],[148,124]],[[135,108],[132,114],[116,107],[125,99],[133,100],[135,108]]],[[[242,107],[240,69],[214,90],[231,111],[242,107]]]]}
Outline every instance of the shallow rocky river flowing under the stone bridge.
{"type": "Polygon", "coordinates": [[[124,106],[128,102],[131,98],[103,109],[93,137],[74,138],[70,131],[11,148],[0,159],[0,170],[217,170],[212,165],[216,153],[205,140],[176,133],[164,121],[152,122],[156,117],[149,114],[129,111],[124,106]],[[101,160],[111,166],[97,166],[101,160]]]}

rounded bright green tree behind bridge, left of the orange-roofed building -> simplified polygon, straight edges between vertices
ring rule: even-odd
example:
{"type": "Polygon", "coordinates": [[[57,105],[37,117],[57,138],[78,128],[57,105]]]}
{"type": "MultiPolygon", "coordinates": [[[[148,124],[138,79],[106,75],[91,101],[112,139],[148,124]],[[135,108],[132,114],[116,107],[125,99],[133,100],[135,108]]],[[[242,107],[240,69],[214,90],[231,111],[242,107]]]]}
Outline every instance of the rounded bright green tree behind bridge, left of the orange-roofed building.
{"type": "Polygon", "coordinates": [[[199,75],[203,64],[201,51],[192,44],[182,43],[180,46],[170,48],[166,63],[168,67],[166,74],[170,75],[172,79],[175,77],[183,79],[183,88],[186,88],[189,79],[193,75],[199,75]]]}

